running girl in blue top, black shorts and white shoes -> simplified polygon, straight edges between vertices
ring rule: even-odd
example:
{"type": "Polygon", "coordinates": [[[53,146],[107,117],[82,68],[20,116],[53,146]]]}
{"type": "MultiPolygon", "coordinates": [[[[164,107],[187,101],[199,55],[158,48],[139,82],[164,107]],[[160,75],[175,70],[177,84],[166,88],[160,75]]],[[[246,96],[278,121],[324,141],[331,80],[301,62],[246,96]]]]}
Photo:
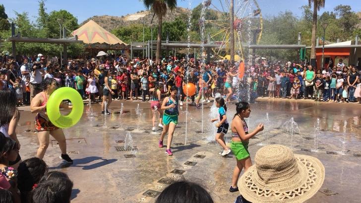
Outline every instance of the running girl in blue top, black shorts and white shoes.
{"type": "MultiPolygon", "coordinates": [[[[224,135],[227,134],[229,124],[226,117],[227,106],[222,97],[216,98],[216,106],[217,108],[219,108],[218,113],[220,120],[220,122],[216,124],[216,127],[218,128],[216,134],[216,141],[223,147],[223,151],[220,154],[222,156],[226,156],[231,152],[231,149],[226,146],[226,141],[224,140],[224,135]]],[[[215,121],[218,121],[218,118],[211,120],[212,123],[215,121]]]]}

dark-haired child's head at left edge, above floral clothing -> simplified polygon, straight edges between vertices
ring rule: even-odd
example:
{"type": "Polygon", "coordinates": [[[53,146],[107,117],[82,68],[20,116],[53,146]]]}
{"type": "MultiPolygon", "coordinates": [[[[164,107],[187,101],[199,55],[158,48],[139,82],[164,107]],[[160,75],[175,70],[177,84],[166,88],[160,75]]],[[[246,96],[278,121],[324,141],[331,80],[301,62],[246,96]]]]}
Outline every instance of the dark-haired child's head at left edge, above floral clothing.
{"type": "Polygon", "coordinates": [[[15,161],[19,154],[16,141],[0,133],[0,143],[0,163],[7,165],[9,161],[15,161]]]}

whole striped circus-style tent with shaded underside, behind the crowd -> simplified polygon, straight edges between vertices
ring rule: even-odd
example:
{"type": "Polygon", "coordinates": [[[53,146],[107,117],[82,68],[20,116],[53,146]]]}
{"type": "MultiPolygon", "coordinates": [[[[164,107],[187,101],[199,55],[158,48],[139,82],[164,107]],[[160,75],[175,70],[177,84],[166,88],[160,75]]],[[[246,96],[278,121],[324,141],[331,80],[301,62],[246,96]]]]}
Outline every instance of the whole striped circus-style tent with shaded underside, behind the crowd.
{"type": "Polygon", "coordinates": [[[85,47],[89,49],[121,50],[128,46],[128,44],[102,28],[94,20],[89,20],[71,34],[73,36],[77,35],[78,39],[82,40],[86,44],[85,47]]]}

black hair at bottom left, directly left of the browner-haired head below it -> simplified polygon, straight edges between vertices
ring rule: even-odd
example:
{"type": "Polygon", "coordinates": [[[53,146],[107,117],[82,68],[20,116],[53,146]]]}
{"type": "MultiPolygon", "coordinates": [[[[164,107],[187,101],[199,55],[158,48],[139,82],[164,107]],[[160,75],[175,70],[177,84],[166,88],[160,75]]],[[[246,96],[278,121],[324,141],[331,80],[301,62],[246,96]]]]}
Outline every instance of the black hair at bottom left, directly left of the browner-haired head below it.
{"type": "Polygon", "coordinates": [[[47,164],[37,157],[25,159],[17,168],[17,183],[22,203],[27,203],[34,184],[48,172],[47,164]]]}

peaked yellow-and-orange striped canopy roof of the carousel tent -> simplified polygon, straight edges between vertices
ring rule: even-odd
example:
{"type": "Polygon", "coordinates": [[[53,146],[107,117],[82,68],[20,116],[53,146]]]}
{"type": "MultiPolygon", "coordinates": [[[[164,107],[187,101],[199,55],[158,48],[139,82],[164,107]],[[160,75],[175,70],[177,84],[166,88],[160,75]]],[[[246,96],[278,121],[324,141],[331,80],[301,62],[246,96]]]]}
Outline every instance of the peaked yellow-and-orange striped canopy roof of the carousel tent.
{"type": "Polygon", "coordinates": [[[82,40],[85,44],[108,44],[115,45],[120,44],[123,46],[127,46],[123,41],[121,41],[114,34],[108,32],[100,25],[98,25],[94,20],[89,20],[83,26],[74,30],[71,33],[73,36],[77,35],[79,40],[82,40]]]}

